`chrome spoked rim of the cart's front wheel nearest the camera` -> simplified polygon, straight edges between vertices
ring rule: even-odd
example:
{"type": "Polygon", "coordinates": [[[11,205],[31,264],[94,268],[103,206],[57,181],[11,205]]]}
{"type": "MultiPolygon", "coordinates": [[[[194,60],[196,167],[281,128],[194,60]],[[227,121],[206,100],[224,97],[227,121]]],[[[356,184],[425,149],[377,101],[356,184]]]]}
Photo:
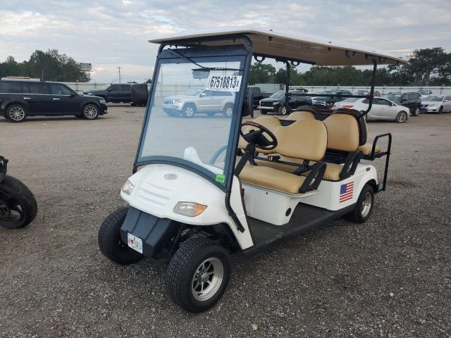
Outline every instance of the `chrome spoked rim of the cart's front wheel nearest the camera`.
{"type": "Polygon", "coordinates": [[[207,258],[197,267],[191,282],[194,299],[206,301],[218,292],[223,282],[224,265],[215,257],[207,258]]]}

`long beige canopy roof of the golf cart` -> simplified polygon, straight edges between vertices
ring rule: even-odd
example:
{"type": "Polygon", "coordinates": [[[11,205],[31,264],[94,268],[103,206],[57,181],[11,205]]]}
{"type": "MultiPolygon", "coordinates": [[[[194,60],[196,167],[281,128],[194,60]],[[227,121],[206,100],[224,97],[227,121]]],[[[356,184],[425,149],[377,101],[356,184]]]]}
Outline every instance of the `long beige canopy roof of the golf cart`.
{"type": "Polygon", "coordinates": [[[280,58],[314,65],[373,65],[375,60],[381,64],[405,63],[384,51],[370,47],[345,44],[311,35],[289,34],[274,30],[256,30],[235,27],[210,31],[178,33],[149,42],[155,44],[192,45],[201,43],[208,46],[240,44],[237,36],[245,36],[252,42],[252,51],[256,56],[280,58]],[[230,37],[230,39],[227,39],[230,37]],[[215,40],[215,38],[217,38],[215,40]]]}

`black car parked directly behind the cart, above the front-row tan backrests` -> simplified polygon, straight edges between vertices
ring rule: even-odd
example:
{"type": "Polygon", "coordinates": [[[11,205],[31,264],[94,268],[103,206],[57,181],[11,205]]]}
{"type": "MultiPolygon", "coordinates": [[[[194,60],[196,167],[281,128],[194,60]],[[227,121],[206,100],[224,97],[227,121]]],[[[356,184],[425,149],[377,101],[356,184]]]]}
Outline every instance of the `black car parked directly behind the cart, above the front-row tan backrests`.
{"type": "Polygon", "coordinates": [[[290,100],[288,101],[289,109],[285,104],[285,91],[280,90],[275,92],[266,99],[260,100],[260,112],[265,115],[267,113],[277,113],[278,115],[287,115],[292,109],[299,106],[311,105],[311,98],[305,96],[304,91],[292,90],[290,93],[290,100]]]}

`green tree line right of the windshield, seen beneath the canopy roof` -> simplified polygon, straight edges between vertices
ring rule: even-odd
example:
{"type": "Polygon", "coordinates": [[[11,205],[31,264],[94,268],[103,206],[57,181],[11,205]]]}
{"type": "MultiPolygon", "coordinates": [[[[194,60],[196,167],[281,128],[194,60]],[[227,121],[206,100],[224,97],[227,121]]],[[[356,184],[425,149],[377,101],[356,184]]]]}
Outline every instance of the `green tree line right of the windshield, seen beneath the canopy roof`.
{"type": "MultiPolygon", "coordinates": [[[[368,86],[373,70],[352,66],[314,66],[305,73],[290,68],[290,84],[294,86],[368,86]]],[[[249,83],[285,83],[286,70],[271,64],[254,63],[249,83]]],[[[442,47],[416,49],[403,65],[378,68],[376,86],[441,86],[451,85],[451,53],[442,47]]]]}

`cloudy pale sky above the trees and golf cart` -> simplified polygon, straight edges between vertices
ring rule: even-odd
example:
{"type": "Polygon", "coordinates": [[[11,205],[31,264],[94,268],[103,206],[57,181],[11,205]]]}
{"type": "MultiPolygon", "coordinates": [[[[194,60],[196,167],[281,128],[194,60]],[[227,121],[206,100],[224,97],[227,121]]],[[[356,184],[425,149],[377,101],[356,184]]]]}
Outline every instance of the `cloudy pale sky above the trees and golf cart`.
{"type": "Polygon", "coordinates": [[[158,46],[147,40],[217,27],[300,32],[404,58],[414,49],[451,51],[451,0],[0,0],[0,18],[0,61],[58,49],[92,63],[92,81],[107,83],[118,81],[118,66],[123,82],[152,77],[158,46]]]}

